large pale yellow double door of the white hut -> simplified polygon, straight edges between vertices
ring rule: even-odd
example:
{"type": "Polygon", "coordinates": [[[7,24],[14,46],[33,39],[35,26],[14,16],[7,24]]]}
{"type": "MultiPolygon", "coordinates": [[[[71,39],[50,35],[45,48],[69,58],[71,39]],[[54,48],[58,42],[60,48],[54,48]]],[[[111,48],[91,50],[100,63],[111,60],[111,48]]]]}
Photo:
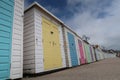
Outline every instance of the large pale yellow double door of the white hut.
{"type": "Polygon", "coordinates": [[[44,69],[52,70],[62,67],[62,56],[58,27],[42,18],[44,69]]]}

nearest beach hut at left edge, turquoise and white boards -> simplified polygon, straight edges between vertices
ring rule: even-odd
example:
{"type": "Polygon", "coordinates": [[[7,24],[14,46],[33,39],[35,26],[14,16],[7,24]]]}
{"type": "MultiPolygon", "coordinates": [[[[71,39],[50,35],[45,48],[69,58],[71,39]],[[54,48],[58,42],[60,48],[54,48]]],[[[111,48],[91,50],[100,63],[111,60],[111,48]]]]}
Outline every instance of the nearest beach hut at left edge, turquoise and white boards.
{"type": "Polygon", "coordinates": [[[0,80],[23,76],[24,0],[0,0],[0,80]]]}

